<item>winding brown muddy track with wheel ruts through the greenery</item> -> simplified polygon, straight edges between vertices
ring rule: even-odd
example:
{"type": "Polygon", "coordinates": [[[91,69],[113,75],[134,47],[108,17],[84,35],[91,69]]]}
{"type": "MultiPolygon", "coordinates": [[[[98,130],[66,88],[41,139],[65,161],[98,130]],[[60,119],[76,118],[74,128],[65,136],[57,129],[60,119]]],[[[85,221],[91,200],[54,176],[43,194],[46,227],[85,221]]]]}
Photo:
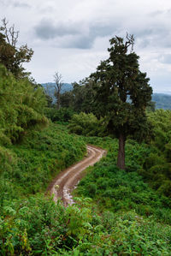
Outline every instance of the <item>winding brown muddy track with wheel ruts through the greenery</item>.
{"type": "Polygon", "coordinates": [[[97,146],[86,146],[87,156],[79,163],[74,164],[68,169],[63,170],[56,178],[50,183],[48,192],[54,194],[54,200],[61,198],[65,206],[74,204],[71,192],[75,186],[80,182],[83,171],[90,165],[97,163],[100,158],[106,153],[103,149],[97,146]]]}

